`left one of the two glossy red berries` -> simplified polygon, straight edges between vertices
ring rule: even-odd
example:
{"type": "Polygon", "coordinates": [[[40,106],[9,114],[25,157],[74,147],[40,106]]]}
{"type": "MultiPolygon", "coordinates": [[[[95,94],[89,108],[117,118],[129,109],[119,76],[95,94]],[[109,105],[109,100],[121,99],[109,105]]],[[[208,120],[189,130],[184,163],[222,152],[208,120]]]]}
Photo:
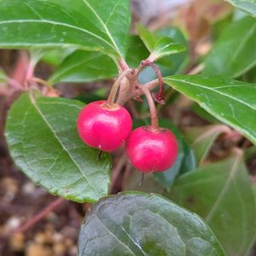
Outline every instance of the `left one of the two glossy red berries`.
{"type": "Polygon", "coordinates": [[[113,151],[125,142],[131,133],[132,120],[128,111],[105,101],[91,102],[79,113],[79,136],[84,143],[102,151],[113,151]]]}

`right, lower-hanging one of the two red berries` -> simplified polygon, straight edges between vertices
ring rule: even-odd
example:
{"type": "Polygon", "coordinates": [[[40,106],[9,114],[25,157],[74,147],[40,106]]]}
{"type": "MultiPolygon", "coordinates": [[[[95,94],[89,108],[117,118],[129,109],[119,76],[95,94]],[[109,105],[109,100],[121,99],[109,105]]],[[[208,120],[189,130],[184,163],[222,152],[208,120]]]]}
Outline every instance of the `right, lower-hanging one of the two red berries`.
{"type": "Polygon", "coordinates": [[[140,172],[164,172],[177,158],[177,140],[171,131],[142,126],[131,132],[126,153],[140,172]]]}

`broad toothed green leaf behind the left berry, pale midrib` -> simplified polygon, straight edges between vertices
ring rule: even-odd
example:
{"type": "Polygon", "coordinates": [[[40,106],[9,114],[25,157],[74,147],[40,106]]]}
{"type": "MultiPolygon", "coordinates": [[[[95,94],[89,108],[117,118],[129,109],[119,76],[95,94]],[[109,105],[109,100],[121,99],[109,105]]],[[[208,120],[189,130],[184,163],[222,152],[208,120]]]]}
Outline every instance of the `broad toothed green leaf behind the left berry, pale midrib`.
{"type": "Polygon", "coordinates": [[[9,111],[6,137],[16,165],[49,193],[72,201],[108,194],[111,160],[80,140],[76,119],[84,104],[64,98],[20,96],[9,111]]]}

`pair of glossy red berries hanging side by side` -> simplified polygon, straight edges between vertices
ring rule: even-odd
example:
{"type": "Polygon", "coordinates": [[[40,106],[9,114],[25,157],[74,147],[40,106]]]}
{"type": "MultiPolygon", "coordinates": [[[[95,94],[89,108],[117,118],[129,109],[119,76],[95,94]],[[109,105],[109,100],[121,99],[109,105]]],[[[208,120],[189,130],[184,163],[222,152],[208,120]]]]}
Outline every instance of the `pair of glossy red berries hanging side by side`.
{"type": "Polygon", "coordinates": [[[79,113],[77,125],[90,147],[111,152],[125,142],[131,164],[140,172],[164,172],[177,158],[177,140],[171,131],[152,125],[131,131],[131,115],[117,103],[91,102],[79,113]]]}

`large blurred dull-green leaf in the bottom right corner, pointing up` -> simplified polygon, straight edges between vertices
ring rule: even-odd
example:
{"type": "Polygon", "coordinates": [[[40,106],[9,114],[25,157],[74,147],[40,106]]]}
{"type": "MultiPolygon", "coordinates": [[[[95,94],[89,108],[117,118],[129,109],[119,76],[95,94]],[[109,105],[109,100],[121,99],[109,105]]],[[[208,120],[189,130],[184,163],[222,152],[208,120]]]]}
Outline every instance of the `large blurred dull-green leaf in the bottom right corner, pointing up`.
{"type": "Polygon", "coordinates": [[[241,151],[179,177],[172,199],[201,215],[226,253],[245,256],[255,241],[256,206],[241,151]]]}

